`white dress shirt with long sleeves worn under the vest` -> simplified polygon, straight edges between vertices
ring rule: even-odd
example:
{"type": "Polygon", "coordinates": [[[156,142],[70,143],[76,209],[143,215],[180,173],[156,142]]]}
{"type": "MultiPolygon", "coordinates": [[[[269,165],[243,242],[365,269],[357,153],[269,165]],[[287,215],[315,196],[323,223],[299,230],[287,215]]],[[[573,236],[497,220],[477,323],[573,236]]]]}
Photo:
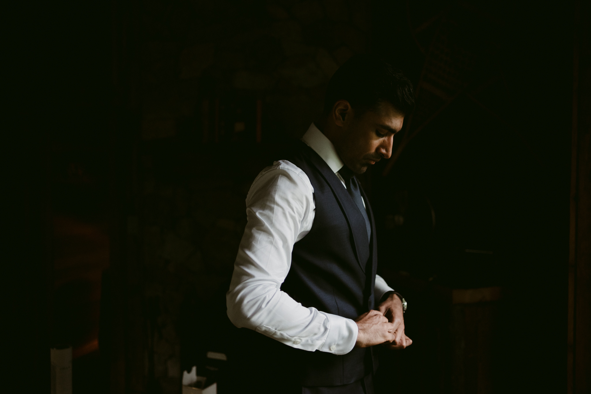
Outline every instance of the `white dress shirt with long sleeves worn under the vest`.
{"type": "MultiPolygon", "coordinates": [[[[337,172],[344,164],[314,123],[302,141],[345,187],[337,172]]],[[[246,197],[248,223],[226,294],[228,317],[236,327],[256,330],[297,349],[346,354],[357,340],[355,321],[307,308],[280,289],[290,271],[294,243],[310,232],[314,213],[314,189],[299,167],[280,160],[258,174],[246,197]]],[[[376,275],[374,290],[378,301],[392,288],[376,275]]]]}

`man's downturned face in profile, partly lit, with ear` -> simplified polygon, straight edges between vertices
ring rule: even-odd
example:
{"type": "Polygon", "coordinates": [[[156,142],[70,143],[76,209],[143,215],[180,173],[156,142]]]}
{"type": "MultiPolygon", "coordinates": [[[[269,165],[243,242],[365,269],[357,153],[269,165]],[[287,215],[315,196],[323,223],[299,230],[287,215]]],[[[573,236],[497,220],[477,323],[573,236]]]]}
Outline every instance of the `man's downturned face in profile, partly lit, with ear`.
{"type": "Polygon", "coordinates": [[[378,111],[367,110],[359,116],[349,110],[339,138],[333,143],[347,167],[363,174],[369,165],[392,155],[394,134],[400,131],[403,121],[404,115],[390,103],[382,103],[378,111]]]}

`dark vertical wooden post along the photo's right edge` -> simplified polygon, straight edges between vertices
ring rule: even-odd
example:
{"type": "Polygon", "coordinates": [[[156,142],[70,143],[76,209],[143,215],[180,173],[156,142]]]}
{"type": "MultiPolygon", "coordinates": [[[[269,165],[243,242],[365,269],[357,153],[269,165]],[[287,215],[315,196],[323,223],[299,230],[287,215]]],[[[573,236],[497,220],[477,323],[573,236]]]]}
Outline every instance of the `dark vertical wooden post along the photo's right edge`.
{"type": "Polygon", "coordinates": [[[571,130],[567,393],[591,390],[591,41],[588,2],[575,2],[571,130]]]}

